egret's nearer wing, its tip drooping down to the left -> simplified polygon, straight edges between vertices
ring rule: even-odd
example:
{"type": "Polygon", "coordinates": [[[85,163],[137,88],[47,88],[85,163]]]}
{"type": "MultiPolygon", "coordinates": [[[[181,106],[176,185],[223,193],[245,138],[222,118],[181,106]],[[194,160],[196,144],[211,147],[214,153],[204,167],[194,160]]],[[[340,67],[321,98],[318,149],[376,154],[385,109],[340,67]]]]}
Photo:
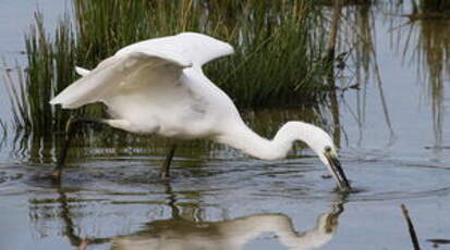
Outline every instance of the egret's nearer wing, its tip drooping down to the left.
{"type": "Polygon", "coordinates": [[[115,54],[104,60],[96,68],[65,88],[54,97],[50,104],[61,104],[63,109],[76,109],[87,103],[101,100],[110,90],[118,87],[133,72],[149,66],[170,64],[182,71],[192,66],[192,62],[181,54],[169,51],[135,51],[115,54]]]}

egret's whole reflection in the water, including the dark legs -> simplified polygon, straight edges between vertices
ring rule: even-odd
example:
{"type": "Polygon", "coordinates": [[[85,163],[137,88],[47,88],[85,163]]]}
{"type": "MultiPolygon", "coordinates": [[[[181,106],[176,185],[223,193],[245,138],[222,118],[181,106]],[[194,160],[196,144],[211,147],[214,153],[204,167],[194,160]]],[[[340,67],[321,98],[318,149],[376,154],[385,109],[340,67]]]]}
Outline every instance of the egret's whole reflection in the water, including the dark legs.
{"type": "MultiPolygon", "coordinates": [[[[166,188],[171,218],[151,221],[145,224],[144,229],[130,235],[83,239],[76,234],[65,189],[58,186],[56,187],[59,193],[57,201],[61,207],[59,217],[64,225],[61,235],[66,236],[70,245],[78,249],[88,249],[86,245],[111,243],[113,250],[234,250],[242,249],[245,243],[265,233],[271,233],[287,249],[306,250],[318,248],[331,240],[338,228],[339,215],[343,212],[343,202],[339,201],[331,205],[330,211],[318,216],[313,229],[303,233],[296,232],[292,220],[280,213],[255,214],[221,222],[202,222],[195,218],[195,211],[199,208],[194,208],[193,212],[188,211],[193,209],[192,207],[177,204],[177,192],[172,191],[170,184],[167,184],[166,188]]],[[[35,215],[39,217],[38,213],[35,215]]]]}

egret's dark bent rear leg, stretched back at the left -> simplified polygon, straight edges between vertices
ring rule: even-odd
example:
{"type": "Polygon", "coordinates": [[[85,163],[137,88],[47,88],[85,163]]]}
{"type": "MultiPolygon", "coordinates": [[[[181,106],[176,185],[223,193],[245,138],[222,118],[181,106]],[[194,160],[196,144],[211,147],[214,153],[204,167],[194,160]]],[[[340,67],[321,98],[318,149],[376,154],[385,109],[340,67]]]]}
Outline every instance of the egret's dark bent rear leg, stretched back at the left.
{"type": "Polygon", "coordinates": [[[64,166],[65,158],[68,155],[69,146],[71,143],[73,134],[75,132],[75,126],[80,126],[82,123],[102,123],[101,120],[87,118],[87,117],[71,117],[65,125],[65,138],[64,145],[62,146],[61,154],[57,161],[57,166],[51,172],[51,178],[53,180],[60,182],[62,176],[62,167],[64,166]]]}

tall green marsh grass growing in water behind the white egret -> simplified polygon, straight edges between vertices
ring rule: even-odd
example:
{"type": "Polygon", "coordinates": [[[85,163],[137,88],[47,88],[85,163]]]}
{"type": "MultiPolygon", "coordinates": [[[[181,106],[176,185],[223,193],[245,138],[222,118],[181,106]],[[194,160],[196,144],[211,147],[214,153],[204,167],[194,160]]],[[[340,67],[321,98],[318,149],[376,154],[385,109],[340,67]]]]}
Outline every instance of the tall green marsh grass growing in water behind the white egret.
{"type": "Polygon", "coordinates": [[[126,45],[187,30],[233,45],[234,55],[205,71],[241,108],[325,97],[327,30],[313,0],[73,0],[73,10],[51,34],[37,13],[25,35],[27,71],[8,84],[17,127],[51,134],[70,114],[104,115],[101,105],[69,112],[48,102],[78,77],[75,65],[93,68],[126,45]]]}

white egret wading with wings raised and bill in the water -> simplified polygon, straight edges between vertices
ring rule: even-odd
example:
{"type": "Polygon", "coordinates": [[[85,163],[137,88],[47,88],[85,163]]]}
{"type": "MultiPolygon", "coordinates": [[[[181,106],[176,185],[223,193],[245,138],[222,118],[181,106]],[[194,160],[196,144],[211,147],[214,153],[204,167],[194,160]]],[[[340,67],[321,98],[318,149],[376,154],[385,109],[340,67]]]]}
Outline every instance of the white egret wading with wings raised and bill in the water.
{"type": "MultiPolygon", "coordinates": [[[[292,143],[301,140],[318,154],[340,189],[350,190],[336,147],[321,128],[288,122],[269,140],[245,125],[232,100],[202,71],[205,63],[231,53],[229,43],[196,33],[141,41],[122,48],[93,71],[76,67],[83,77],[50,103],[76,109],[102,102],[112,118],[77,121],[175,139],[206,138],[263,160],[285,158],[292,143]]],[[[57,179],[69,141],[70,136],[52,173],[57,179]]],[[[173,151],[162,167],[162,177],[168,176],[173,151]]]]}

